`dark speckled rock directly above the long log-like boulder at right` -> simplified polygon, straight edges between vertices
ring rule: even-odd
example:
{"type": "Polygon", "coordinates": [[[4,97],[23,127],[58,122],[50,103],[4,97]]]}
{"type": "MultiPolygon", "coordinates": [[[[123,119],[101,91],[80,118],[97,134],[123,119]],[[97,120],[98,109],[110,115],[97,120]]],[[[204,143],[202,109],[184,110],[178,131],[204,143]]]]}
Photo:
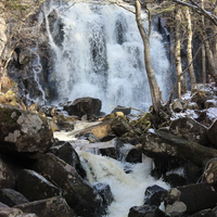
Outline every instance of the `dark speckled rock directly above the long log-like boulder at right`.
{"type": "Polygon", "coordinates": [[[190,117],[175,119],[170,125],[170,132],[186,140],[207,144],[207,128],[190,117]]]}

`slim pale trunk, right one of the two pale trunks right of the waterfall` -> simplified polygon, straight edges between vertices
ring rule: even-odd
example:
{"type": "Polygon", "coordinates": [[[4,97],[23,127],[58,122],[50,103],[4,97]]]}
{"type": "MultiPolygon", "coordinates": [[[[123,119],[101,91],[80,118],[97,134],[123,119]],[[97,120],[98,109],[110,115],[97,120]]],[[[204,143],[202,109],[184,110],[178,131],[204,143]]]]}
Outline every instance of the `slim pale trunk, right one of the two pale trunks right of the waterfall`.
{"type": "MultiPolygon", "coordinates": [[[[188,64],[190,65],[190,63],[192,62],[192,27],[191,27],[191,15],[189,9],[186,9],[186,16],[188,22],[187,59],[188,59],[188,64]]],[[[193,90],[196,84],[193,64],[189,66],[189,74],[191,78],[191,90],[193,90]]]]}

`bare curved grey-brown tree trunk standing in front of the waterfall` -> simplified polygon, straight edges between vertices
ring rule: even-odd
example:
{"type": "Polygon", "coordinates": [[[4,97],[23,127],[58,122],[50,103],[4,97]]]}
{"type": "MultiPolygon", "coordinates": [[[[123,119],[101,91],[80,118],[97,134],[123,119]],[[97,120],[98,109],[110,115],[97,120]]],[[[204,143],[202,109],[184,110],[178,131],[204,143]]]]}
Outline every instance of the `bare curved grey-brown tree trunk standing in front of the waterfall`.
{"type": "Polygon", "coordinates": [[[159,92],[159,87],[157,85],[154,69],[153,69],[152,63],[151,63],[150,33],[146,34],[145,29],[143,27],[143,24],[141,21],[141,4],[140,4],[139,0],[136,0],[135,5],[136,5],[136,21],[137,21],[137,25],[138,25],[138,28],[139,28],[139,31],[140,31],[140,35],[142,37],[143,44],[144,44],[144,63],[145,63],[146,75],[148,75],[149,85],[150,85],[153,108],[154,108],[155,113],[158,114],[159,107],[161,107],[161,92],[159,92]]]}

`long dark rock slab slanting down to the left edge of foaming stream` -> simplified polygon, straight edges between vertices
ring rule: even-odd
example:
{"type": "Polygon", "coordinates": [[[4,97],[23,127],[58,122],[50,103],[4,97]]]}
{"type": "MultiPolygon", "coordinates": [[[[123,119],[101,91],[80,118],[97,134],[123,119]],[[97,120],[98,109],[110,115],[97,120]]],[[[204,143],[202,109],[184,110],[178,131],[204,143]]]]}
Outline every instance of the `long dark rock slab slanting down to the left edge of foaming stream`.
{"type": "Polygon", "coordinates": [[[58,187],[65,190],[64,197],[77,215],[84,217],[95,215],[102,197],[74,167],[51,153],[40,156],[35,166],[58,187]]]}

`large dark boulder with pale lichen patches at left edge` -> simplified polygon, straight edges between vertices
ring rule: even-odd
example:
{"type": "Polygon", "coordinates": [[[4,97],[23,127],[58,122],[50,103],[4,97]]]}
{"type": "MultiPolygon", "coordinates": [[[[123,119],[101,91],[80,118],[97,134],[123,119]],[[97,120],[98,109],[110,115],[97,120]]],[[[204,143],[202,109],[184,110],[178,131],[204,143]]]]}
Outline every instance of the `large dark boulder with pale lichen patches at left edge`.
{"type": "Polygon", "coordinates": [[[8,154],[37,157],[53,142],[53,132],[47,118],[0,104],[0,149],[8,154]]]}

